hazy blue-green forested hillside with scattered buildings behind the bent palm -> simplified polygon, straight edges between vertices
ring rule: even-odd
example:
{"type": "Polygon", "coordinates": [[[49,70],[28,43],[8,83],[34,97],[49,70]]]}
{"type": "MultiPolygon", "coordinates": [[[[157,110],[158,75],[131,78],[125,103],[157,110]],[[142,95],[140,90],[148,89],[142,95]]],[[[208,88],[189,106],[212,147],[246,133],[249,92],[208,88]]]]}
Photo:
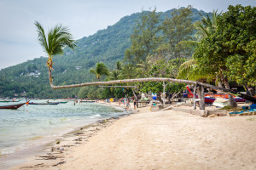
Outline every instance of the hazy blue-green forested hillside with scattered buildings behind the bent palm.
{"type": "MultiPolygon", "coordinates": [[[[160,19],[170,17],[172,10],[158,13],[160,19]]],[[[193,21],[201,20],[197,9],[193,8],[192,12],[193,21]]],[[[200,12],[206,14],[203,11],[200,12]]],[[[62,56],[55,56],[52,72],[54,83],[65,85],[92,81],[95,77],[90,75],[89,71],[97,61],[104,62],[110,69],[113,68],[116,61],[124,59],[125,49],[131,47],[130,37],[140,16],[141,13],[125,16],[113,26],[97,31],[90,37],[77,40],[78,47],[74,51],[67,48],[62,56]]],[[[42,55],[44,55],[43,50],[42,55]]],[[[49,87],[46,60],[46,57],[40,57],[1,70],[0,97],[45,99],[76,96],[79,88],[52,90],[49,87]]]]}

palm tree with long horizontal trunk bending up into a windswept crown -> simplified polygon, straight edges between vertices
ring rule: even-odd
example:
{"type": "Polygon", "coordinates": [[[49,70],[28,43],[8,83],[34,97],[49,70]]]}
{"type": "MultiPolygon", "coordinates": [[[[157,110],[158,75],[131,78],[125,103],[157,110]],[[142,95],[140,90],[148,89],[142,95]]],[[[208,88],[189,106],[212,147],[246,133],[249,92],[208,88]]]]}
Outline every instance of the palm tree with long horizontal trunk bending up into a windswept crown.
{"type": "MultiPolygon", "coordinates": [[[[69,47],[74,48],[76,45],[74,44],[74,40],[72,38],[72,35],[68,32],[67,27],[63,26],[55,26],[54,29],[51,29],[48,33],[48,38],[45,37],[44,28],[41,26],[37,21],[35,22],[35,25],[38,27],[38,40],[41,43],[41,45],[44,48],[44,51],[46,54],[48,54],[48,60],[47,60],[47,66],[49,69],[49,83],[50,87],[53,89],[61,89],[61,88],[79,88],[84,86],[95,86],[95,85],[110,85],[110,84],[117,84],[117,83],[131,83],[131,82],[180,82],[180,83],[187,83],[187,84],[195,84],[200,85],[206,88],[212,88],[212,89],[218,89],[223,92],[228,93],[235,93],[234,91],[230,89],[225,88],[219,88],[212,86],[210,84],[201,83],[201,82],[194,82],[189,80],[180,80],[180,79],[172,79],[172,78],[164,78],[164,77],[150,77],[150,78],[135,78],[135,79],[125,79],[125,80],[114,80],[109,82],[84,82],[80,84],[70,84],[70,85],[64,85],[64,86],[55,86],[52,82],[52,59],[55,54],[62,54],[63,48],[69,47]]],[[[90,71],[90,72],[96,72],[96,71],[90,71]]],[[[126,65],[124,69],[122,69],[122,77],[133,77],[131,74],[134,74],[134,69],[132,65],[126,65]]],[[[240,97],[248,99],[256,103],[256,99],[247,96],[246,94],[239,94],[240,97]]]]}

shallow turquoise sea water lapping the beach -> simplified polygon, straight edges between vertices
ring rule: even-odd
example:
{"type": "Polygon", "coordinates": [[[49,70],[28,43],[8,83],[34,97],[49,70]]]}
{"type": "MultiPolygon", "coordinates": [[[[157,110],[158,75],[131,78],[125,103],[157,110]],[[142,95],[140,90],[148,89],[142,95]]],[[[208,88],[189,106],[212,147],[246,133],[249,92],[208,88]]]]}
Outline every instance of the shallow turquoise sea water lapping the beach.
{"type": "Polygon", "coordinates": [[[124,111],[108,105],[73,105],[72,101],[59,105],[23,105],[18,110],[2,109],[0,155],[25,150],[35,144],[44,144],[77,127],[121,114],[124,111]]]}

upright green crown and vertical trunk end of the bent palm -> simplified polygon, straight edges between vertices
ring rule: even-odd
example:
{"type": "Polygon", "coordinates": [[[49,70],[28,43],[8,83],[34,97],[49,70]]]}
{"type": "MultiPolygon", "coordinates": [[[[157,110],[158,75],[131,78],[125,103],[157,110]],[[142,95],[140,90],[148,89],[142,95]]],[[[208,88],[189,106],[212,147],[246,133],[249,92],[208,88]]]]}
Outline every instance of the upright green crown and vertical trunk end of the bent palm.
{"type": "Polygon", "coordinates": [[[56,54],[63,54],[63,48],[75,48],[75,41],[71,33],[69,33],[66,26],[57,25],[50,29],[46,37],[44,28],[36,21],[35,25],[38,28],[38,41],[44,48],[44,52],[48,55],[47,67],[49,71],[49,84],[53,87],[51,71],[53,70],[53,56],[56,54]]]}

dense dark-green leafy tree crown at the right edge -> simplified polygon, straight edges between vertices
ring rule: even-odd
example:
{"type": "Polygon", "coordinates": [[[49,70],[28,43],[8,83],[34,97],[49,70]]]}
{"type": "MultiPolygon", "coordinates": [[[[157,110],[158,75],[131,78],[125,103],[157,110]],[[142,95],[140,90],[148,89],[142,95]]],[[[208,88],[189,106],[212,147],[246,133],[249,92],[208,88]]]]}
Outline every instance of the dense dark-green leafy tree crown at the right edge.
{"type": "Polygon", "coordinates": [[[217,29],[195,51],[200,70],[229,81],[255,86],[256,8],[230,6],[217,19],[217,29]]]}

